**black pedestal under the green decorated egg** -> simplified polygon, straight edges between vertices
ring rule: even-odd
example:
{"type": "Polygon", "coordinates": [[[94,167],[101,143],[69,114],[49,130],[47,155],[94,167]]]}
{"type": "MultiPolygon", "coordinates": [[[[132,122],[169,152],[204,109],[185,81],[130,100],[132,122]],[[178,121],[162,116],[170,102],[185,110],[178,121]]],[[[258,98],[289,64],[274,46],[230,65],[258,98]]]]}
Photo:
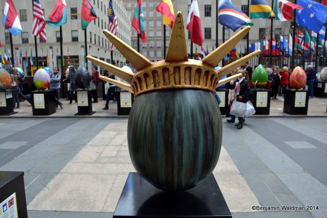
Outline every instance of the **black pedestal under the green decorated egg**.
{"type": "Polygon", "coordinates": [[[255,109],[255,115],[269,115],[270,98],[271,90],[269,89],[250,89],[249,99],[255,109]]]}

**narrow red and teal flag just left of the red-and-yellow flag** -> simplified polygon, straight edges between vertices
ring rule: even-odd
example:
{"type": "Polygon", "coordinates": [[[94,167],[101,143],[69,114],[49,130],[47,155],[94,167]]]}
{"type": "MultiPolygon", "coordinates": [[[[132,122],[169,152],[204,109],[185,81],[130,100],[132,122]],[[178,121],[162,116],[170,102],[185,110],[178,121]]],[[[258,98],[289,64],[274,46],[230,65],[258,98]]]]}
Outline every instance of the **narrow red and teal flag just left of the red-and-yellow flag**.
{"type": "Polygon", "coordinates": [[[146,43],[147,36],[144,25],[142,0],[137,1],[137,5],[132,19],[132,27],[136,30],[136,33],[139,35],[139,37],[141,37],[142,41],[146,43]]]}

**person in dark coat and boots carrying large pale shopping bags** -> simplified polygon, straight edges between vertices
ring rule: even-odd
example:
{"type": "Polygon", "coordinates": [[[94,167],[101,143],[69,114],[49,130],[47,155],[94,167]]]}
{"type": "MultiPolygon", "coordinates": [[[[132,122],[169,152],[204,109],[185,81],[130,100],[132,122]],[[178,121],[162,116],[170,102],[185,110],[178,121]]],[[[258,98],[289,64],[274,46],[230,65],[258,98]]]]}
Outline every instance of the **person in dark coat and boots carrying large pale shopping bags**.
{"type": "MultiPolygon", "coordinates": [[[[238,71],[239,73],[240,71],[238,71]]],[[[246,72],[242,70],[242,78],[238,78],[235,82],[230,82],[230,89],[235,89],[236,94],[236,101],[247,103],[249,101],[249,92],[250,92],[250,85],[249,82],[245,79],[246,72]]],[[[239,123],[236,125],[237,129],[242,129],[243,124],[245,122],[244,117],[238,117],[239,123]]],[[[228,123],[235,122],[235,116],[231,115],[230,119],[227,119],[228,123]]]]}

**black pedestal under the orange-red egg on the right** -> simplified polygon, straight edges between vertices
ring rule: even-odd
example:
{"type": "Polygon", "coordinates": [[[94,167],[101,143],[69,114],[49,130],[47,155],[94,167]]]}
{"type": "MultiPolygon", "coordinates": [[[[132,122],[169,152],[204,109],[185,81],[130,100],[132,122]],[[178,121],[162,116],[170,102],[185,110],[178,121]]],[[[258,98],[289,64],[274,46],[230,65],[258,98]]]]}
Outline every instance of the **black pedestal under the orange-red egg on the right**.
{"type": "Polygon", "coordinates": [[[308,90],[286,89],[284,93],[284,112],[294,115],[307,115],[309,103],[308,90]]]}

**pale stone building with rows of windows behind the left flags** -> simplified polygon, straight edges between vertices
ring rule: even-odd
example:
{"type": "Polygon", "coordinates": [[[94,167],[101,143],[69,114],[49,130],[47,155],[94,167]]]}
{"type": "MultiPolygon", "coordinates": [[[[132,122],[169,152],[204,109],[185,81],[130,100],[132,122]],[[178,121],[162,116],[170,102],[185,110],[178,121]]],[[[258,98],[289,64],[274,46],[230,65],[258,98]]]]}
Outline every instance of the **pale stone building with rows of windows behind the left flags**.
{"type": "MultiPolygon", "coordinates": [[[[87,41],[87,53],[88,55],[97,57],[101,60],[111,62],[109,40],[102,33],[103,29],[108,29],[108,5],[107,0],[89,0],[91,5],[94,7],[97,19],[90,22],[86,29],[86,41],[87,41]]],[[[49,17],[52,12],[56,1],[40,0],[39,1],[45,18],[49,17]]],[[[6,1],[0,1],[0,7],[4,9],[6,1]]],[[[17,14],[20,19],[21,27],[23,32],[18,34],[16,37],[13,36],[13,47],[14,53],[18,54],[22,51],[23,63],[19,63],[18,66],[24,68],[30,74],[31,67],[26,65],[26,54],[27,62],[30,61],[31,51],[33,57],[33,66],[36,67],[36,54],[35,54],[35,43],[34,35],[32,35],[32,23],[33,23],[33,6],[32,1],[14,1],[16,6],[17,14]]],[[[122,0],[112,0],[112,4],[115,10],[115,14],[118,19],[118,36],[124,40],[127,44],[131,44],[130,41],[130,17],[127,10],[124,7],[122,0]]],[[[62,26],[62,39],[63,39],[63,56],[64,56],[64,69],[68,66],[68,56],[70,65],[75,67],[86,66],[85,60],[85,48],[84,48],[84,31],[81,29],[81,0],[70,0],[66,1],[67,7],[67,23],[62,26]],[[69,55],[68,55],[69,54],[69,55]]],[[[2,16],[1,16],[2,22],[2,16]]],[[[0,39],[2,41],[2,53],[6,50],[8,55],[8,49],[10,49],[10,38],[9,32],[4,31],[4,27],[0,27],[0,39]]],[[[60,67],[60,31],[58,28],[46,26],[46,35],[48,39],[42,41],[37,37],[37,50],[39,57],[40,66],[54,66],[60,67]],[[48,60],[46,53],[48,51],[48,60]],[[43,61],[43,63],[42,63],[43,61]]],[[[123,65],[126,63],[126,59],[116,49],[113,51],[113,63],[116,65],[123,65]]],[[[91,69],[92,63],[87,61],[88,69],[91,69]]],[[[101,69],[102,70],[102,69],[101,69]]]]}

